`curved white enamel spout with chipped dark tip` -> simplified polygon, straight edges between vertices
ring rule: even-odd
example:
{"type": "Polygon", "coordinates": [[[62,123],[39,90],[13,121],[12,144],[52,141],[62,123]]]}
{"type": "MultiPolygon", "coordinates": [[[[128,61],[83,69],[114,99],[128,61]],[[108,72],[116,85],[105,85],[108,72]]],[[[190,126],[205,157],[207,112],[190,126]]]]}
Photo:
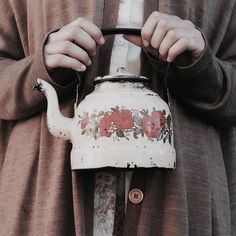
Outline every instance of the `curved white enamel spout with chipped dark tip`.
{"type": "Polygon", "coordinates": [[[50,133],[57,138],[71,140],[73,119],[61,114],[55,89],[48,82],[40,78],[38,78],[33,89],[43,92],[47,98],[47,125],[50,133]]]}

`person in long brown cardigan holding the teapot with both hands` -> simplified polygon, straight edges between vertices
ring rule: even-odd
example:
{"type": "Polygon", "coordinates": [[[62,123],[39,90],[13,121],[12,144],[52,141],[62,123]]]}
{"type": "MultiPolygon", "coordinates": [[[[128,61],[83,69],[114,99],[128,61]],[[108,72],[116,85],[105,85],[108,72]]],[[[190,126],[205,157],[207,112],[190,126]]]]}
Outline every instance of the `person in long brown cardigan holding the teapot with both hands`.
{"type": "MultiPolygon", "coordinates": [[[[235,235],[235,176],[219,132],[236,123],[235,4],[144,1],[141,37],[126,39],[142,47],[140,71],[153,90],[161,92],[171,63],[177,167],[133,171],[130,189],[144,197],[127,201],[114,235],[235,235]]],[[[71,145],[48,132],[46,100],[32,86],[38,77],[50,82],[63,114],[73,116],[74,70],[86,71],[81,96],[95,75],[109,73],[112,39],[100,28],[116,27],[118,8],[103,0],[1,1],[0,235],[93,234],[96,170],[71,171],[71,145]]]]}

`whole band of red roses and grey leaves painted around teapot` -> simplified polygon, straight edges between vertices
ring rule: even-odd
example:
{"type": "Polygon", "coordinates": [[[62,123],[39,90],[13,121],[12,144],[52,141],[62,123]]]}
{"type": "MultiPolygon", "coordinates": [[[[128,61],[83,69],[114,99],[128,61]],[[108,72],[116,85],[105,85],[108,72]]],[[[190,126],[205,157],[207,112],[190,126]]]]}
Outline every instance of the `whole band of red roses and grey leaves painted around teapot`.
{"type": "Polygon", "coordinates": [[[113,137],[116,140],[130,137],[138,139],[148,137],[151,141],[167,140],[171,143],[171,117],[166,111],[153,108],[148,110],[120,109],[118,106],[110,111],[99,111],[93,114],[84,113],[80,117],[81,134],[99,137],[113,137]]]}

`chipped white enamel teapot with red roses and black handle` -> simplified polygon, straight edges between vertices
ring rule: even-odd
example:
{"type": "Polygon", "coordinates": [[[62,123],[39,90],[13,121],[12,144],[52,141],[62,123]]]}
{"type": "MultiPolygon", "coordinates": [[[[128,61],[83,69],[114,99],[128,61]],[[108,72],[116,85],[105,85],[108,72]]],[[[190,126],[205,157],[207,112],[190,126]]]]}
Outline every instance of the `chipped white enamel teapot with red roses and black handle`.
{"type": "MultiPolygon", "coordinates": [[[[137,29],[108,29],[103,34],[140,34],[137,29]]],[[[73,118],[64,117],[54,88],[38,79],[34,88],[47,97],[47,123],[56,137],[72,143],[71,167],[175,168],[170,109],[148,88],[149,79],[119,70],[94,79],[95,89],[73,118]]]]}

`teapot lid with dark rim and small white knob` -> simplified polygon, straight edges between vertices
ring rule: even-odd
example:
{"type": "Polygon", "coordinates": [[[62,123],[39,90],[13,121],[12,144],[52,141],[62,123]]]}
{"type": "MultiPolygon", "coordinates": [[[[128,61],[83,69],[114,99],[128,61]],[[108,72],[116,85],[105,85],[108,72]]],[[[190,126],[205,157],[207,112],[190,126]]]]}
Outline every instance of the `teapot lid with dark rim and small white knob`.
{"type": "Polygon", "coordinates": [[[111,75],[98,76],[94,79],[94,84],[101,82],[110,81],[110,82],[148,82],[149,78],[140,75],[134,75],[127,73],[125,68],[118,68],[117,72],[111,75]]]}

